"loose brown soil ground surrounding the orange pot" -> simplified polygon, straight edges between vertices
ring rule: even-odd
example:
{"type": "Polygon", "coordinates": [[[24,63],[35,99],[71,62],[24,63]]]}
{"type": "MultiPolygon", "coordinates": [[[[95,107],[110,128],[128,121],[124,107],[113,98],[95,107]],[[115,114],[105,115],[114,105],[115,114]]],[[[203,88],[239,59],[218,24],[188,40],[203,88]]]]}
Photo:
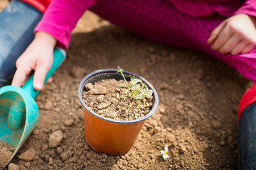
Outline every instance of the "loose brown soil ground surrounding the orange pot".
{"type": "Polygon", "coordinates": [[[53,83],[38,94],[40,120],[11,163],[21,169],[238,169],[238,103],[251,85],[223,62],[144,40],[87,12],[53,83]],[[77,89],[88,73],[118,65],[153,84],[159,108],[127,154],[108,156],[85,141],[77,89]],[[63,140],[49,147],[56,131],[63,140]],[[164,146],[170,159],[148,155],[164,146]],[[31,161],[18,158],[31,150],[31,161]]]}

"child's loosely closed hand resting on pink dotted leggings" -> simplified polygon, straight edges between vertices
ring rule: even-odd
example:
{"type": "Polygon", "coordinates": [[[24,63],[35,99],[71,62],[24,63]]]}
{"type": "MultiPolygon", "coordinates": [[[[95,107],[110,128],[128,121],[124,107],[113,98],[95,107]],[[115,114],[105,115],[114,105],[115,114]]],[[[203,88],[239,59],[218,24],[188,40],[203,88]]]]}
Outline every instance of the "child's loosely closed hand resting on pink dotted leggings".
{"type": "Polygon", "coordinates": [[[247,53],[256,44],[256,18],[243,13],[226,19],[210,33],[208,44],[221,53],[247,53]]]}

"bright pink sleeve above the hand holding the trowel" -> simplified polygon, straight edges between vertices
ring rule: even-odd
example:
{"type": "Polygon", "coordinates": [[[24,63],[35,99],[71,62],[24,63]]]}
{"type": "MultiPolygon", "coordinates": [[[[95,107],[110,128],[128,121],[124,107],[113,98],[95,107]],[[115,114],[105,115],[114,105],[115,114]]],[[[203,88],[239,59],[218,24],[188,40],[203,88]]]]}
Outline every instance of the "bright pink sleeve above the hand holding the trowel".
{"type": "Polygon", "coordinates": [[[58,46],[68,48],[70,42],[70,33],[90,6],[95,4],[96,0],[53,0],[43,18],[35,28],[53,35],[58,40],[58,46]]]}

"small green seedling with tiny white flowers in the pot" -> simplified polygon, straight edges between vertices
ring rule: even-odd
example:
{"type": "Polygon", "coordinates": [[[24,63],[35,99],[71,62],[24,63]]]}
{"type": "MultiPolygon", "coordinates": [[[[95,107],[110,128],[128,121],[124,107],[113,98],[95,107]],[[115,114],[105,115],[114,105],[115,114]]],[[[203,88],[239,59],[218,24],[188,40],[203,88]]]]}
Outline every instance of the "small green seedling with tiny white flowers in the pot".
{"type": "Polygon", "coordinates": [[[119,84],[119,87],[123,87],[125,84],[127,84],[127,93],[130,98],[140,101],[146,97],[146,94],[142,92],[142,89],[144,88],[146,91],[148,91],[148,87],[142,82],[141,79],[131,78],[131,81],[128,83],[124,77],[123,69],[120,69],[118,66],[117,72],[121,73],[124,79],[124,84],[119,84]],[[137,86],[137,84],[141,84],[141,86],[137,86]]]}

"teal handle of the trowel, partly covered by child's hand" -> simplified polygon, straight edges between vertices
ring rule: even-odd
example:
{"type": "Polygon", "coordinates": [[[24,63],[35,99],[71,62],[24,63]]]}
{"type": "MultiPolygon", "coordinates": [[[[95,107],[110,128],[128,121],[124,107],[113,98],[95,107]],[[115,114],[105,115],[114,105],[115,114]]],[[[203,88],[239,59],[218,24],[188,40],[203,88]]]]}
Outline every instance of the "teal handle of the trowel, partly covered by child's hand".
{"type": "MultiPolygon", "coordinates": [[[[46,84],[46,81],[53,75],[53,73],[58,69],[60,64],[65,60],[66,52],[62,48],[56,47],[53,50],[53,64],[50,67],[49,71],[46,74],[46,79],[43,84],[46,84]]],[[[33,98],[38,95],[39,91],[33,89],[33,75],[28,78],[26,84],[22,87],[28,94],[30,94],[33,98]]]]}

